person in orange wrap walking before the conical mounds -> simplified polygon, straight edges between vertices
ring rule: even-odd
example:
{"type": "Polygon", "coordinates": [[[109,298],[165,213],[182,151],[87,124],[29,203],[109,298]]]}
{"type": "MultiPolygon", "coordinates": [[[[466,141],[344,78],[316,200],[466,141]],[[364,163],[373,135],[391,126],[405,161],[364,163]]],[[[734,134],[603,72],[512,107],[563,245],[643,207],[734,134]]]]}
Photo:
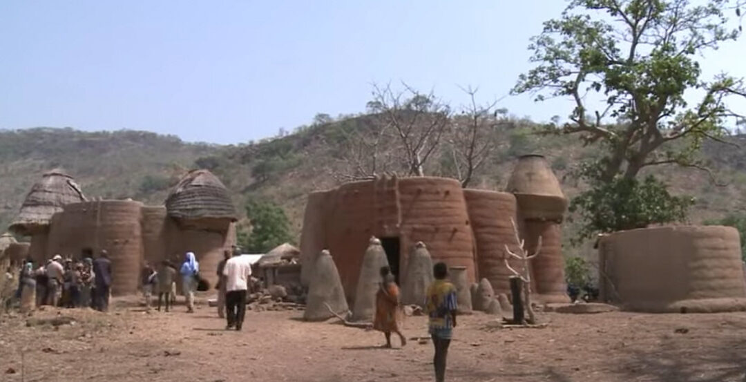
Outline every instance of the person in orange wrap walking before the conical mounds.
{"type": "Polygon", "coordinates": [[[375,295],[373,328],[383,332],[383,336],[386,336],[386,345],[383,347],[391,348],[392,333],[398,334],[402,346],[407,345],[407,339],[399,330],[402,317],[399,287],[396,285],[394,275],[391,274],[391,269],[388,266],[381,267],[380,278],[378,292],[375,295]]]}

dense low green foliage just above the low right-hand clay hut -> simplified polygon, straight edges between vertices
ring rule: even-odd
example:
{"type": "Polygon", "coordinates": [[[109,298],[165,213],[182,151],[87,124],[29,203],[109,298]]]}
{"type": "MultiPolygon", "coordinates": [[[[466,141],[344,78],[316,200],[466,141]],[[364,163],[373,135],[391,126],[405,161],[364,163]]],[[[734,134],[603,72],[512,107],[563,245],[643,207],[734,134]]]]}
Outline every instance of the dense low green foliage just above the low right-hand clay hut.
{"type": "Polygon", "coordinates": [[[683,222],[692,204],[693,198],[671,195],[652,175],[643,181],[618,176],[608,183],[595,182],[570,204],[570,212],[578,213],[583,222],[573,240],[577,244],[598,232],[683,222]]]}

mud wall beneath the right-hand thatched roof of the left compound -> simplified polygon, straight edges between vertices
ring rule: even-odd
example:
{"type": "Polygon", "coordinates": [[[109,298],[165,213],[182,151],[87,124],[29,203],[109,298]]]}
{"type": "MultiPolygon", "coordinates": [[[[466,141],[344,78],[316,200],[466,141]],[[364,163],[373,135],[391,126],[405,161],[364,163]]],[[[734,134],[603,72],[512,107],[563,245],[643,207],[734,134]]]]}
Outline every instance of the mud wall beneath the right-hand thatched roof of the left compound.
{"type": "MultiPolygon", "coordinates": [[[[228,231],[207,231],[195,229],[174,230],[169,245],[169,259],[181,268],[186,252],[194,252],[199,263],[199,275],[213,288],[218,281],[218,263],[223,259],[225,250],[236,244],[236,227],[229,225],[228,231]]],[[[177,282],[181,285],[181,281],[177,282]]]]}

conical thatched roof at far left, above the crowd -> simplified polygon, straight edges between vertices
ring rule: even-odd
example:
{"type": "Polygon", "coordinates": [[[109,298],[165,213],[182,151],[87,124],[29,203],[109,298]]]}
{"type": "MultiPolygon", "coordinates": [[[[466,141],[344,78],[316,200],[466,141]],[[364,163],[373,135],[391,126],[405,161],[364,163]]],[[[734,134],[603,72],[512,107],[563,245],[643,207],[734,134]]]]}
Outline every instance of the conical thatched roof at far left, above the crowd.
{"type": "Polygon", "coordinates": [[[60,212],[63,205],[81,201],[86,201],[86,197],[72,176],[59,169],[46,172],[26,195],[10,231],[29,235],[49,225],[51,216],[60,212]]]}

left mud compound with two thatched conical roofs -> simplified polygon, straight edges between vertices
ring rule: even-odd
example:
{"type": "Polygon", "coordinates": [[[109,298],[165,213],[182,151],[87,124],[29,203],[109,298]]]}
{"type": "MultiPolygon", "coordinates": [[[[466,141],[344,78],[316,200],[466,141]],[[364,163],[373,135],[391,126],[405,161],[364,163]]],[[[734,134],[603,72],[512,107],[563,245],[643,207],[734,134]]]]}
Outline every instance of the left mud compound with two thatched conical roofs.
{"type": "Polygon", "coordinates": [[[143,262],[179,263],[186,251],[197,255],[202,277],[215,284],[222,253],[236,241],[235,221],[228,190],[207,170],[181,178],[165,206],[90,200],[71,176],[52,171],[34,184],[10,230],[31,237],[13,258],[28,254],[42,262],[54,254],[77,257],[84,249],[106,250],[112,293],[121,295],[137,291],[143,262]]]}

